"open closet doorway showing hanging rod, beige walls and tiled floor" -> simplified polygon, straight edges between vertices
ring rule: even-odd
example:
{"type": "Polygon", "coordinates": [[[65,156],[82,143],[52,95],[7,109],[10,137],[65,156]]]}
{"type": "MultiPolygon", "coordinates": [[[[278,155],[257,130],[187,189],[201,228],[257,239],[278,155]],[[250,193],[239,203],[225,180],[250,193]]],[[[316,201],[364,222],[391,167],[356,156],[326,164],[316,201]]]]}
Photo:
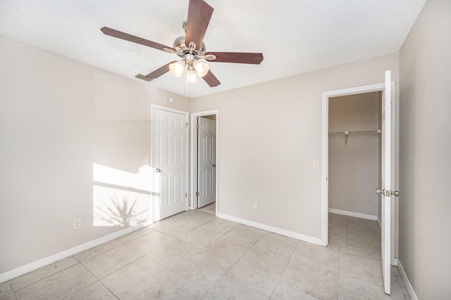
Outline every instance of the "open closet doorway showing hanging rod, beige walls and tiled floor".
{"type": "Polygon", "coordinates": [[[329,98],[328,243],[378,255],[381,107],[381,91],[329,98]]]}

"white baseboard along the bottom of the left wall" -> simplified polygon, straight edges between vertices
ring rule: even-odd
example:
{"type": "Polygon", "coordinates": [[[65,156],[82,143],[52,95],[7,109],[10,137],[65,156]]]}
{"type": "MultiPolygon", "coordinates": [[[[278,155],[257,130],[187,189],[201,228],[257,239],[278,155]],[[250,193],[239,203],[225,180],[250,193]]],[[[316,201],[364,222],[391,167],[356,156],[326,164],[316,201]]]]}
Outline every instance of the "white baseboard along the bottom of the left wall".
{"type": "Polygon", "coordinates": [[[135,230],[141,229],[145,226],[149,226],[150,224],[151,224],[151,222],[146,222],[146,223],[140,224],[139,226],[128,227],[123,230],[116,231],[116,233],[111,233],[104,237],[100,237],[97,240],[92,240],[91,242],[86,242],[85,244],[80,244],[76,247],[67,249],[63,252],[59,252],[52,256],[45,257],[44,259],[39,259],[39,261],[34,261],[32,263],[26,264],[25,266],[21,266],[19,268],[15,268],[8,272],[1,273],[0,274],[0,283],[6,282],[8,280],[11,280],[11,279],[16,278],[21,275],[24,275],[26,273],[30,273],[31,271],[37,270],[38,268],[42,268],[43,266],[47,266],[50,263],[55,263],[56,261],[61,261],[61,259],[66,259],[66,257],[68,257],[68,256],[73,256],[74,254],[77,254],[77,253],[85,251],[89,248],[98,246],[99,244],[103,244],[104,242],[109,242],[111,240],[114,240],[117,237],[121,237],[128,233],[132,233],[135,230]]]}

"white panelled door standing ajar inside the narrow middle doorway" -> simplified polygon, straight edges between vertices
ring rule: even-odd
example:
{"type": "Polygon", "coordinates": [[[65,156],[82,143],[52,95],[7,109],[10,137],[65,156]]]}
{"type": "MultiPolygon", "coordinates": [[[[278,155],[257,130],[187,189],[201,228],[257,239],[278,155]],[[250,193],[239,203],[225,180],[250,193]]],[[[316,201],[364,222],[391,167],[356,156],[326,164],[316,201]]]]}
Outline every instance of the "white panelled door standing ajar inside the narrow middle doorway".
{"type": "Polygon", "coordinates": [[[215,202],[215,125],[216,122],[199,117],[197,131],[198,191],[197,207],[215,202]]]}

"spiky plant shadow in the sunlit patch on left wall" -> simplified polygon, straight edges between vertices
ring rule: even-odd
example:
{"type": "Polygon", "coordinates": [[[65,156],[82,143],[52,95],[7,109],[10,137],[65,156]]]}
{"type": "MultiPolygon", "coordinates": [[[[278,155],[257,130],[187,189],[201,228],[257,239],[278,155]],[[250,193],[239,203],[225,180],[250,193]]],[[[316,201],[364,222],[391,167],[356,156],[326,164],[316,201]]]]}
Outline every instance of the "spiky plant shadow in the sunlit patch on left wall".
{"type": "Polygon", "coordinates": [[[102,202],[101,205],[94,207],[93,222],[129,227],[147,221],[149,209],[140,205],[139,198],[138,196],[130,199],[127,195],[123,198],[118,198],[116,195],[111,196],[110,202],[102,202]]]}

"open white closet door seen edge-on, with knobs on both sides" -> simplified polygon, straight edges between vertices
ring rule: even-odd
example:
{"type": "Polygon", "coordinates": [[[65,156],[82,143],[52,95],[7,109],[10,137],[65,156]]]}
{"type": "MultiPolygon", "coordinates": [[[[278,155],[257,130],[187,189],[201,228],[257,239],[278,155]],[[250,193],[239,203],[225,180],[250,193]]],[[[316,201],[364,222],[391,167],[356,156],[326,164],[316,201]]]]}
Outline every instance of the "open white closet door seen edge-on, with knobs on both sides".
{"type": "Polygon", "coordinates": [[[392,192],[394,164],[392,161],[392,91],[391,91],[391,71],[385,72],[385,89],[382,99],[382,145],[381,145],[381,188],[376,190],[381,195],[381,260],[383,273],[383,286],[385,294],[390,294],[390,262],[391,262],[391,216],[393,195],[399,195],[398,191],[392,192]]]}

